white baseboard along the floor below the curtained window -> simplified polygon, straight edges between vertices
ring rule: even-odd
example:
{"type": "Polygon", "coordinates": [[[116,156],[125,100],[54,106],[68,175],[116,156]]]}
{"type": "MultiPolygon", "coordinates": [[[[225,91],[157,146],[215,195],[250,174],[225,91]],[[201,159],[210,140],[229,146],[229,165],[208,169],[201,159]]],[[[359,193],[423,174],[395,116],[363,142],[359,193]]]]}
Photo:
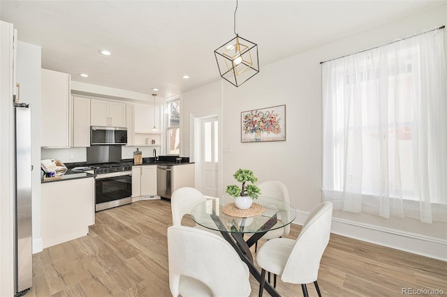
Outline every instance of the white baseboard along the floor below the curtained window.
{"type": "MultiPolygon", "coordinates": [[[[296,211],[294,224],[302,225],[309,213],[296,211]]],[[[331,232],[349,238],[447,261],[447,240],[397,229],[332,218],[331,232]]]]}

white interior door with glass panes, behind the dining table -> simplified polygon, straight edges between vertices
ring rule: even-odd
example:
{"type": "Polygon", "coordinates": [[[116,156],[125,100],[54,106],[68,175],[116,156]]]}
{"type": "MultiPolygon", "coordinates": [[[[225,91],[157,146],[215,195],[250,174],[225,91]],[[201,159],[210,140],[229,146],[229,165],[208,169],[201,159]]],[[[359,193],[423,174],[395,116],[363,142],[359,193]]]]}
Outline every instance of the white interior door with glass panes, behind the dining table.
{"type": "Polygon", "coordinates": [[[217,116],[202,118],[198,121],[196,135],[198,147],[198,188],[203,195],[218,197],[219,187],[219,121],[217,116]]]}

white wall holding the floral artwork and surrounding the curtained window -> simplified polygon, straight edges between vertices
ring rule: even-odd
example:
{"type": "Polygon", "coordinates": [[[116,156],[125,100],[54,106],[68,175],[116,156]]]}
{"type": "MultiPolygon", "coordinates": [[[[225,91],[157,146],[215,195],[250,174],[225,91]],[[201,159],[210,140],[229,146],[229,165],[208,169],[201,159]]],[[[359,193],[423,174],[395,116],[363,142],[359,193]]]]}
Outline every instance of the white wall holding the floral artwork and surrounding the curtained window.
{"type": "MultiPolygon", "coordinates": [[[[204,102],[219,107],[221,101],[223,111],[221,140],[223,147],[226,148],[225,151],[229,151],[223,153],[222,159],[223,190],[226,185],[234,183],[233,173],[238,168],[249,168],[254,171],[259,181],[270,179],[283,181],[291,193],[291,204],[298,213],[305,215],[322,199],[320,62],[388,43],[434,26],[441,26],[446,22],[447,5],[444,4],[263,66],[258,75],[238,88],[223,82],[221,98],[218,91],[215,91],[211,98],[208,96],[210,86],[189,91],[184,94],[183,143],[186,147],[189,146],[189,125],[186,123],[189,121],[189,114],[203,109],[204,102]],[[186,101],[186,98],[190,101],[186,101]],[[274,105],[286,105],[286,141],[242,144],[240,113],[274,105]]],[[[444,36],[447,45],[447,29],[444,29],[444,36]]],[[[262,59],[262,56],[260,58],[262,59]]],[[[445,252],[447,224],[438,222],[424,224],[413,219],[387,220],[364,213],[342,211],[335,211],[334,218],[372,229],[392,230],[391,233],[394,230],[408,236],[434,238],[434,241],[444,245],[444,255],[439,257],[447,259],[445,252]]],[[[344,231],[339,233],[344,234],[344,231]]],[[[362,238],[361,234],[356,236],[366,241],[377,242],[374,238],[362,238]]],[[[417,248],[423,250],[423,247],[417,248]]]]}

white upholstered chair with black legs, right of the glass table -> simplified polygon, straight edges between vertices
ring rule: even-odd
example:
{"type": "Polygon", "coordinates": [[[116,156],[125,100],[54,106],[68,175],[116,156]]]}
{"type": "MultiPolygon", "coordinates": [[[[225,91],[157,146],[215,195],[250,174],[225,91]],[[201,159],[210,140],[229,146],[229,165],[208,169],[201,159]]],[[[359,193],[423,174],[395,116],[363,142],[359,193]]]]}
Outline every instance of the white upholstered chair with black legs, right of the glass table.
{"type": "Polygon", "coordinates": [[[259,296],[263,294],[265,271],[281,275],[283,282],[301,284],[306,297],[306,284],[314,282],[318,296],[321,296],[316,280],[321,257],[329,242],[331,220],[332,203],[323,202],[309,213],[295,241],[274,238],[263,244],[256,255],[262,269],[259,296]]]}

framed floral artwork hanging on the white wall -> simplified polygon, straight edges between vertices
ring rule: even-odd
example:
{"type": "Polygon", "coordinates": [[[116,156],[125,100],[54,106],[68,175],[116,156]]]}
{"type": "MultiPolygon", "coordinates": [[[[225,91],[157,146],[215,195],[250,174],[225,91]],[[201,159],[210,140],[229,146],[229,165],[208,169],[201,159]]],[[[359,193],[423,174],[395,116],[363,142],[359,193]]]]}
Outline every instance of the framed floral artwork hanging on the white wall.
{"type": "Polygon", "coordinates": [[[286,105],[241,112],[241,142],[286,140],[286,105]]]}

